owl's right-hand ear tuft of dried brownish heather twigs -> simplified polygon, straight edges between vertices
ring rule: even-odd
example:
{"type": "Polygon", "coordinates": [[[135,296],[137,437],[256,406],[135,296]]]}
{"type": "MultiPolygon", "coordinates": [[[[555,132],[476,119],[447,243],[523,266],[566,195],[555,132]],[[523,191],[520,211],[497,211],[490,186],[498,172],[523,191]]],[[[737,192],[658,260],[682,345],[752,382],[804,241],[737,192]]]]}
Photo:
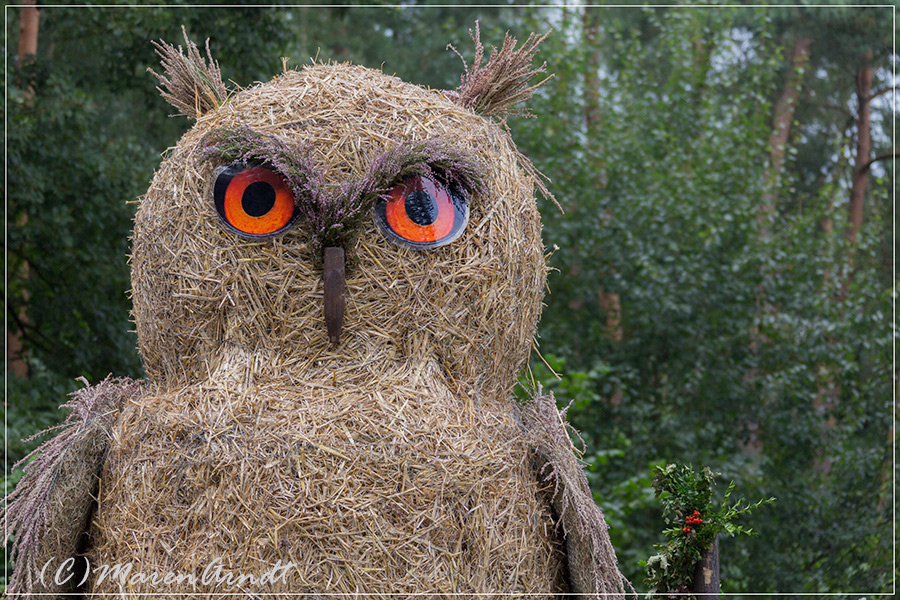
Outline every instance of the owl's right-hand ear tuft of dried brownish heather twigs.
{"type": "Polygon", "coordinates": [[[538,46],[550,35],[550,32],[548,31],[544,35],[530,34],[522,47],[518,49],[516,49],[516,38],[507,33],[503,40],[503,47],[499,51],[496,47],[491,50],[491,57],[484,66],[481,66],[484,59],[484,46],[481,44],[478,21],[475,21],[475,32],[473,33],[470,29],[469,35],[475,42],[475,60],[471,68],[452,44],[447,46],[462,59],[463,68],[465,68],[461,85],[457,88],[458,92],[451,93],[451,98],[460,106],[474,110],[485,117],[503,118],[515,112],[527,115],[527,111],[514,111],[512,107],[528,100],[536,89],[553,77],[551,74],[541,81],[529,85],[536,75],[547,70],[547,63],[532,69],[531,61],[537,54],[538,46]]]}

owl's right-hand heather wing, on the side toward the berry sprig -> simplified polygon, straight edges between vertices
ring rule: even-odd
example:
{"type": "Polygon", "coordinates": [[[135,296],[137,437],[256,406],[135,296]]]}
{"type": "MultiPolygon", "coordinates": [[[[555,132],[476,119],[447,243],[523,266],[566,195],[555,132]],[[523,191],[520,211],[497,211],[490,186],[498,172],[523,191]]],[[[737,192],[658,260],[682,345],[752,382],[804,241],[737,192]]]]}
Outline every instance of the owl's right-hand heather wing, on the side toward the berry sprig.
{"type": "MultiPolygon", "coordinates": [[[[538,390],[520,407],[540,480],[552,485],[552,505],[565,539],[571,591],[584,598],[624,598],[631,584],[619,572],[608,526],[588,486],[567,432],[564,411],[538,390]]],[[[631,593],[634,594],[633,588],[631,593]]]]}

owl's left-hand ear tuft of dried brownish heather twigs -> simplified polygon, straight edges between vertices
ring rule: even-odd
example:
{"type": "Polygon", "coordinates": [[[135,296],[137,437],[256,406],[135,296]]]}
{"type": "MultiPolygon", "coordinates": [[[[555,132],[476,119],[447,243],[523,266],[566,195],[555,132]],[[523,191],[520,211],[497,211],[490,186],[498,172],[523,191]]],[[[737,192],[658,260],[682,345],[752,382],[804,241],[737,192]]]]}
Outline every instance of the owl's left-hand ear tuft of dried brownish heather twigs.
{"type": "Polygon", "coordinates": [[[206,57],[200,56],[197,45],[188,39],[187,31],[181,27],[187,54],[181,46],[167,44],[160,40],[152,42],[160,57],[163,75],[153,69],[147,69],[159,79],[161,87],[157,87],[166,101],[181,111],[180,114],[197,119],[210,110],[221,106],[228,98],[228,89],[222,83],[219,63],[213,60],[209,51],[209,39],[206,40],[206,57]]]}

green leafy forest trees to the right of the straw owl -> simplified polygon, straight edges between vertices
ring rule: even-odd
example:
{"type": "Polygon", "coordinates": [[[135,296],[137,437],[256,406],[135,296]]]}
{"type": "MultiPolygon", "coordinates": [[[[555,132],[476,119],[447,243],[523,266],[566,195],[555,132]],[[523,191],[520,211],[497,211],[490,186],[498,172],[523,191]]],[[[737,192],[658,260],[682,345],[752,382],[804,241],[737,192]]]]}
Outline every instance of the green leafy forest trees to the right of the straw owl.
{"type": "MultiPolygon", "coordinates": [[[[640,473],[663,462],[711,465],[736,493],[779,498],[777,518],[747,517],[761,536],[723,548],[726,591],[884,591],[891,581],[895,184],[886,172],[870,180],[850,245],[853,132],[823,104],[852,111],[855,63],[839,68],[823,47],[827,28],[813,17],[837,18],[831,9],[805,10],[802,26],[819,32],[812,92],[801,95],[771,220],[760,203],[789,40],[777,10],[532,14],[533,29],[554,26],[544,57],[557,76],[530,104],[541,118],[511,126],[566,210],[543,210],[545,243],[560,249],[540,328],[563,380],[537,360],[532,369],[562,405],[575,400],[569,418],[633,581],[659,519],[640,473]],[[817,154],[801,161],[805,145],[817,154]]],[[[881,56],[876,79],[889,75],[881,56]]],[[[873,126],[889,144],[890,129],[873,126]]]]}

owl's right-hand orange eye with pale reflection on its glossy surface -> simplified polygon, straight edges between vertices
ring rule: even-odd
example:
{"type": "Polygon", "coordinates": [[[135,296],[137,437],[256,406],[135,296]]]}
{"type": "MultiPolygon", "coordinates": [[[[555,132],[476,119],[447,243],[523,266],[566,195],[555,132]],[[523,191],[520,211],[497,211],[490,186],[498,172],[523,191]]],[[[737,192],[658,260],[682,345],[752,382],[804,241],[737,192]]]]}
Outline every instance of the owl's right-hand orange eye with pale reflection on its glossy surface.
{"type": "Polygon", "coordinates": [[[459,188],[430,177],[410,177],[375,203],[375,223],[389,240],[415,249],[437,248],[459,238],[469,203],[459,188]]]}

